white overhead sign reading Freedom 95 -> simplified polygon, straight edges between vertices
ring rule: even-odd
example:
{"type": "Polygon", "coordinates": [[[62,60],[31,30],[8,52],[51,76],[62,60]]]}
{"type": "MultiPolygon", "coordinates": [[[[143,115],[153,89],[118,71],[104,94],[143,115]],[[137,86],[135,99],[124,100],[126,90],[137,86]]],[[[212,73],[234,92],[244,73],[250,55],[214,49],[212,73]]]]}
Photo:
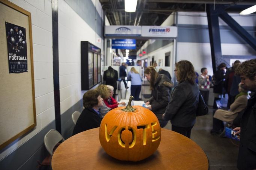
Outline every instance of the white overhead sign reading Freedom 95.
{"type": "Polygon", "coordinates": [[[142,26],[142,37],[177,37],[177,27],[142,26]]]}

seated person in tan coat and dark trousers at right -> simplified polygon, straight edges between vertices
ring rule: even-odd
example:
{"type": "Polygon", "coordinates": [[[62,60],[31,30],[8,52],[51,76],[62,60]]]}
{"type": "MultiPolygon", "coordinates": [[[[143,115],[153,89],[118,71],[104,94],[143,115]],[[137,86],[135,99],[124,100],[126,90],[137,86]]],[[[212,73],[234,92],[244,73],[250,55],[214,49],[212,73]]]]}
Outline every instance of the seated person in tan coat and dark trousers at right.
{"type": "Polygon", "coordinates": [[[238,85],[239,94],[236,95],[234,103],[230,105],[229,110],[218,109],[213,116],[213,124],[211,134],[219,134],[223,131],[225,122],[233,121],[239,112],[247,106],[248,90],[242,88],[241,84],[238,85]]]}

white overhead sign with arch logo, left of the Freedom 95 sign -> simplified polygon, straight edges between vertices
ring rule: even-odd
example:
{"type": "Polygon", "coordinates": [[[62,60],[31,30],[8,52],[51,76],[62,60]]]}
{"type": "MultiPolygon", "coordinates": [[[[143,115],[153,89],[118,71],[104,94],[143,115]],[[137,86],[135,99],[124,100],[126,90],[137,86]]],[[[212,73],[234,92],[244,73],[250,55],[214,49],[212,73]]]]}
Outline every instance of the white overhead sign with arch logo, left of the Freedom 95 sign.
{"type": "Polygon", "coordinates": [[[141,26],[109,25],[105,26],[105,36],[141,36],[141,26]]]}

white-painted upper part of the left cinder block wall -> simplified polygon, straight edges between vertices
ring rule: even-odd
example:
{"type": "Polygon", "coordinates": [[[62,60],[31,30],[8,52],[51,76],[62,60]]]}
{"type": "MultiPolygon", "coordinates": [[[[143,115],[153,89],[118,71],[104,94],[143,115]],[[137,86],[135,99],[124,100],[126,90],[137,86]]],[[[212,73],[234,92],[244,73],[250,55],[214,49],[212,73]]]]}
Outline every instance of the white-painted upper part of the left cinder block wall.
{"type": "MultiPolygon", "coordinates": [[[[36,122],[33,131],[0,153],[0,160],[32,138],[55,119],[53,93],[53,45],[51,0],[10,0],[32,16],[36,122]]],[[[98,0],[92,0],[102,15],[98,0]]],[[[89,41],[103,50],[103,40],[64,0],[59,0],[59,79],[61,113],[81,100],[80,42],[89,41]]],[[[91,17],[91,16],[90,16],[91,17]]],[[[92,16],[95,17],[95,14],[92,16]]],[[[102,52],[103,54],[103,52],[102,52]]]]}

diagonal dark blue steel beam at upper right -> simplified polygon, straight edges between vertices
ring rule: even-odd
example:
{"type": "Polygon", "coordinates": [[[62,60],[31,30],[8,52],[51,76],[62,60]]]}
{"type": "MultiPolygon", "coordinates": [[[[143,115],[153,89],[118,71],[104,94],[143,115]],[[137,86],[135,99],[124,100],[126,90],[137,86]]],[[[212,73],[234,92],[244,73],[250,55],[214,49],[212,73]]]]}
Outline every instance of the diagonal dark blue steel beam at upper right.
{"type": "Polygon", "coordinates": [[[223,10],[220,13],[220,18],[229,25],[242,39],[245,40],[256,51],[256,39],[249,34],[241,25],[239,25],[227,12],[223,10]]]}

